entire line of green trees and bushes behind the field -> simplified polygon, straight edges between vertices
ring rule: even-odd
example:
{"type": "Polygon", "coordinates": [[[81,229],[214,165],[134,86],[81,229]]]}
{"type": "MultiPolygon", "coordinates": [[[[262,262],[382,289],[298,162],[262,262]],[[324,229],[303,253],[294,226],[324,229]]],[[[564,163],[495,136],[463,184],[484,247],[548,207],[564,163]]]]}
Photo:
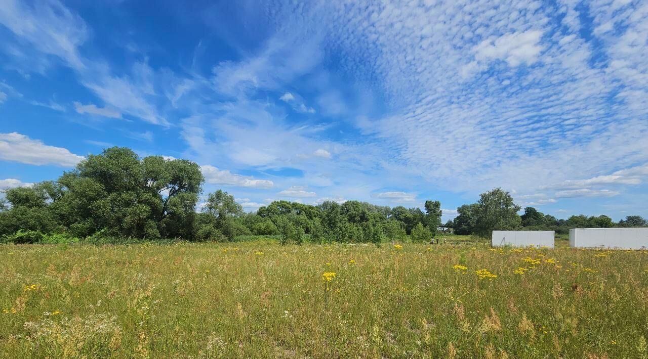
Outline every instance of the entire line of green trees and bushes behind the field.
{"type": "MultiPolygon", "coordinates": [[[[124,239],[233,241],[237,235],[279,235],[282,243],[359,243],[406,238],[429,241],[441,226],[441,202],[424,210],[325,201],[317,206],[274,201],[245,213],[232,195],[202,194],[203,175],[189,160],[140,158],[131,149],[111,147],[89,155],[58,180],[5,190],[0,202],[0,237],[8,243],[85,240],[120,243],[124,239]]],[[[567,220],[527,207],[518,215],[511,195],[496,188],[475,204],[457,208],[446,227],[456,234],[489,237],[492,230],[645,226],[642,217],[619,223],[610,217],[572,216],[567,220]]]]}

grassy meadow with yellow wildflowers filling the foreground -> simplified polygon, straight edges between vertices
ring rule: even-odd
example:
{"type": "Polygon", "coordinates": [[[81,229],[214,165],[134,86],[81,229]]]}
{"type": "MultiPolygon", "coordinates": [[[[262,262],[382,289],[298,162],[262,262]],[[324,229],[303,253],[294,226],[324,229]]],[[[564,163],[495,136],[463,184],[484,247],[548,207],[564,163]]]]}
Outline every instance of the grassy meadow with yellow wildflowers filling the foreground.
{"type": "Polygon", "coordinates": [[[268,239],[5,245],[0,258],[5,358],[648,354],[645,251],[268,239]]]}

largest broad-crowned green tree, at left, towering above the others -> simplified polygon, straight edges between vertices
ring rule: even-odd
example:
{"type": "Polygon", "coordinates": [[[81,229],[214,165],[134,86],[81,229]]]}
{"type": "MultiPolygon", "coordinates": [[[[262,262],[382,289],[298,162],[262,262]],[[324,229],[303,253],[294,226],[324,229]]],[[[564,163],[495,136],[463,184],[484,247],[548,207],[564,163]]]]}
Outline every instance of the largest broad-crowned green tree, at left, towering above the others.
{"type": "Polygon", "coordinates": [[[191,239],[202,182],[194,162],[141,159],[131,149],[111,147],[60,177],[52,208],[80,237],[104,230],[122,237],[191,239]]]}

